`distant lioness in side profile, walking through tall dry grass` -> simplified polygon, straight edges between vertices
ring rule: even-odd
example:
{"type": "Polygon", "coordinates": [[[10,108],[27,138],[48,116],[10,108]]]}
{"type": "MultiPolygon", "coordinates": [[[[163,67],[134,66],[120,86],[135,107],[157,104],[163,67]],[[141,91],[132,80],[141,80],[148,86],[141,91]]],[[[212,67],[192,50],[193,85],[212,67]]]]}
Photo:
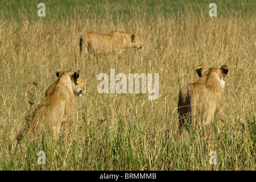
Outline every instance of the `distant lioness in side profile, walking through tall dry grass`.
{"type": "Polygon", "coordinates": [[[117,53],[118,56],[129,47],[135,47],[141,51],[143,40],[137,34],[128,34],[117,30],[109,34],[98,34],[97,32],[86,32],[79,41],[81,53],[93,51],[99,53],[117,53]]]}

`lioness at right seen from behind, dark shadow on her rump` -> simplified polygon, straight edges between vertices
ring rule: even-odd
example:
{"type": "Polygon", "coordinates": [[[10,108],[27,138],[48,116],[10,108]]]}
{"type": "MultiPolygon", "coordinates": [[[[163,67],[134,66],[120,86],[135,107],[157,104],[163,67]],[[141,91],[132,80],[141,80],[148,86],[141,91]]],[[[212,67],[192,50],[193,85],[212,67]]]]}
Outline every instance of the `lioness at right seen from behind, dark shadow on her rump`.
{"type": "Polygon", "coordinates": [[[225,87],[225,77],[229,68],[227,65],[222,65],[220,69],[206,69],[203,65],[198,65],[196,72],[200,77],[199,80],[183,86],[179,92],[179,130],[186,125],[185,122],[191,123],[195,119],[201,119],[203,125],[209,125],[215,110],[218,114],[218,124],[222,125],[224,118],[222,90],[225,87]]]}

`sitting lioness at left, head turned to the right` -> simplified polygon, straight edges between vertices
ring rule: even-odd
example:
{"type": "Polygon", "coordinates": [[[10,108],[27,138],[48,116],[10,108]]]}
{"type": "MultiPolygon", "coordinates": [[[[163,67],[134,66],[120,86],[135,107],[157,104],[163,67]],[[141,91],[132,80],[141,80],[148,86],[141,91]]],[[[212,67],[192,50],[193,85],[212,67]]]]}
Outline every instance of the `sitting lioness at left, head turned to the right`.
{"type": "MultiPolygon", "coordinates": [[[[73,95],[81,97],[86,82],[81,78],[79,70],[68,72],[59,69],[56,75],[58,79],[46,90],[43,101],[35,109],[32,120],[27,126],[26,133],[36,135],[43,127],[49,126],[56,140],[64,123],[70,125],[74,111],[73,95]]],[[[23,135],[19,134],[17,139],[19,138],[23,138],[23,135]]]]}

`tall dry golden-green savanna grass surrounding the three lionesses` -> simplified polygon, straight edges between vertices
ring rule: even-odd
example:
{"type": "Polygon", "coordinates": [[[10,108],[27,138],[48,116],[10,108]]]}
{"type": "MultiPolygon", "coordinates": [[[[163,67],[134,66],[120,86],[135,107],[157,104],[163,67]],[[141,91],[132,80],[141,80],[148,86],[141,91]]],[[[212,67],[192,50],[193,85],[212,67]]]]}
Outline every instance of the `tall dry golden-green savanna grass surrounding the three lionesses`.
{"type": "Polygon", "coordinates": [[[210,151],[217,152],[214,170],[255,170],[255,1],[215,1],[217,17],[209,16],[211,1],[42,2],[45,17],[37,15],[39,1],[0,3],[0,170],[209,170],[210,151]],[[145,46],[121,57],[79,55],[82,32],[112,30],[136,32],[145,46]],[[225,126],[179,135],[179,90],[197,81],[199,64],[229,67],[225,126]],[[87,81],[67,136],[55,142],[45,133],[17,145],[25,116],[60,68],[80,69],[87,81]],[[110,69],[159,73],[158,99],[99,94],[97,75],[110,69]]]}

